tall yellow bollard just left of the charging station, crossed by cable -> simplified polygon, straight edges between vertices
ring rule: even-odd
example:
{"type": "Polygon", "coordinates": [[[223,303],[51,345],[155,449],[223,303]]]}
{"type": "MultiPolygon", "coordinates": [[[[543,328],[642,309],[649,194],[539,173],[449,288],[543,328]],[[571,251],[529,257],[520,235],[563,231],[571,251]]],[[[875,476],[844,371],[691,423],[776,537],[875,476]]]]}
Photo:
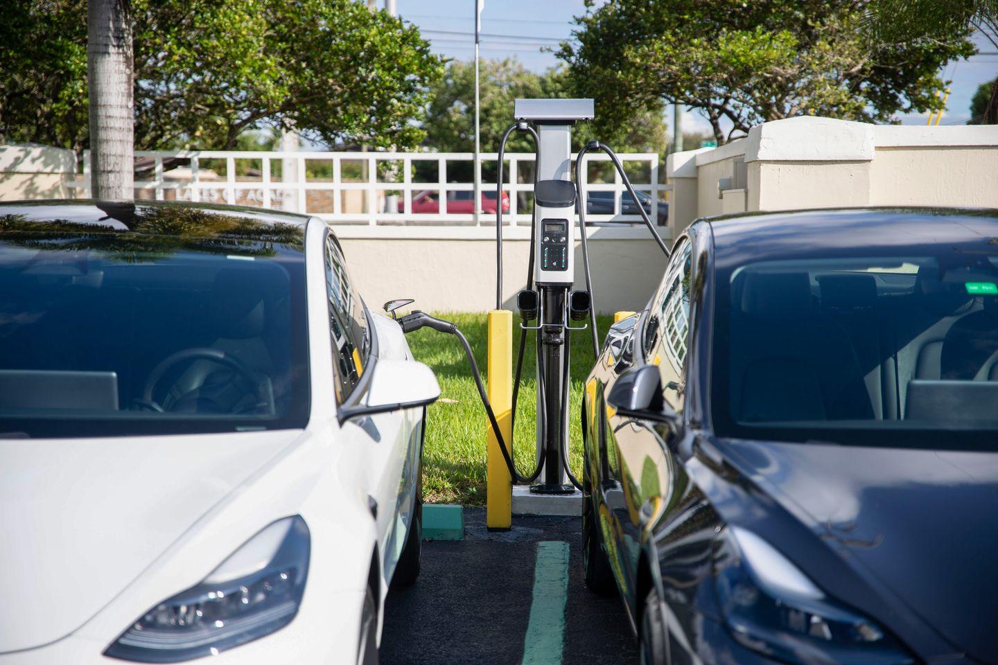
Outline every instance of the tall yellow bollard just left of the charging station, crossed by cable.
{"type": "MultiPolygon", "coordinates": [[[[513,454],[513,312],[493,309],[488,318],[488,396],[503,441],[513,454]]],[[[486,421],[488,423],[488,421],[486,421]]],[[[485,488],[485,525],[505,529],[513,524],[513,479],[506,468],[499,440],[490,424],[485,488]]]]}

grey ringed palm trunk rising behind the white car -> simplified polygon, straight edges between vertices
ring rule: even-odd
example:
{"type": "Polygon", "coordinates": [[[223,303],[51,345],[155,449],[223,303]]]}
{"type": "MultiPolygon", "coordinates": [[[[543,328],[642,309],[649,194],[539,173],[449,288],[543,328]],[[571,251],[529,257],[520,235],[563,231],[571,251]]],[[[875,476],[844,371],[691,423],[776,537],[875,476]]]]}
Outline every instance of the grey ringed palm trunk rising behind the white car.
{"type": "Polygon", "coordinates": [[[135,106],[131,0],[87,3],[91,195],[133,200],[135,106]]]}

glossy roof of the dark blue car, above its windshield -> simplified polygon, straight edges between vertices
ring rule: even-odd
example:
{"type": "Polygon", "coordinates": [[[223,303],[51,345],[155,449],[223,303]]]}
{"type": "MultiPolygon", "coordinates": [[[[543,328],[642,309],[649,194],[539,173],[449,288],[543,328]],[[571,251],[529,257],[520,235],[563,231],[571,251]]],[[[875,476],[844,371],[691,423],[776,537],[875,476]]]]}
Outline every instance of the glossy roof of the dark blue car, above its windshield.
{"type": "Polygon", "coordinates": [[[702,222],[710,224],[717,249],[738,247],[754,255],[982,238],[998,245],[998,209],[990,208],[827,208],[719,215],[702,222]]]}

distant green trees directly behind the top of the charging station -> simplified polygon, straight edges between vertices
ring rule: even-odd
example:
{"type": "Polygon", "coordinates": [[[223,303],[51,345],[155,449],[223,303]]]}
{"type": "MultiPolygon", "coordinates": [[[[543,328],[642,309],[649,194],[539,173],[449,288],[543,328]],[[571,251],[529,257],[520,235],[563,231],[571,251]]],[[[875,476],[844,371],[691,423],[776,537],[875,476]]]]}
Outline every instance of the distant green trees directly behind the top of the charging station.
{"type": "MultiPolygon", "coordinates": [[[[503,131],[513,122],[513,103],[518,97],[576,97],[574,81],[563,68],[538,75],[516,60],[482,60],[479,65],[481,87],[482,152],[499,150],[503,131]]],[[[474,148],[475,68],[473,63],[452,61],[444,76],[430,88],[432,101],[423,129],[424,144],[441,152],[467,153],[474,148]]],[[[661,102],[622,114],[622,122],[612,131],[597,135],[590,123],[581,123],[572,133],[576,150],[587,141],[599,138],[622,152],[663,154],[668,134],[661,102]]],[[[532,152],[533,142],[522,134],[510,137],[507,152],[532,152]]]]}

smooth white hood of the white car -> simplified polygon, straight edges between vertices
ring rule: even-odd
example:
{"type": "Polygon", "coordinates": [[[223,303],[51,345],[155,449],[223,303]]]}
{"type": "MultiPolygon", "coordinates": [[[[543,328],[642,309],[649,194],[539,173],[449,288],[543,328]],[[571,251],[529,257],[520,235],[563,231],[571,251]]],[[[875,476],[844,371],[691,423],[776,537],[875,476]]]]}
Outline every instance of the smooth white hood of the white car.
{"type": "Polygon", "coordinates": [[[79,628],[300,434],[0,441],[0,653],[79,628]]]}

